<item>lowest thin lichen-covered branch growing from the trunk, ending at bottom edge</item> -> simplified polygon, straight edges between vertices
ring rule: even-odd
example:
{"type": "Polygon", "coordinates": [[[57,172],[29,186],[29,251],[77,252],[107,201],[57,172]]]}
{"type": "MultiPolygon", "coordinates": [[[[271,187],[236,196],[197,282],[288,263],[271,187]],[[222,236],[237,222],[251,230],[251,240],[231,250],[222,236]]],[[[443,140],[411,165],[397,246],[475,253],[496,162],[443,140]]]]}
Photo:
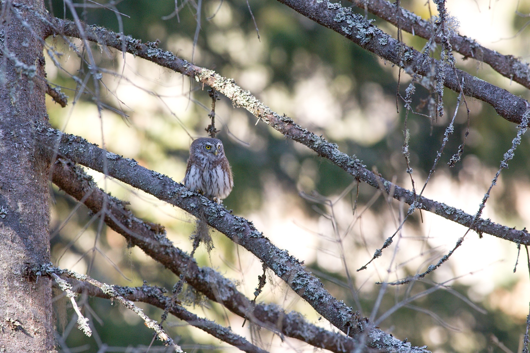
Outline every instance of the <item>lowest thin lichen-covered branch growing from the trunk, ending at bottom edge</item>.
{"type": "MultiPolygon", "coordinates": [[[[48,271],[48,275],[57,276],[55,272],[48,271]]],[[[105,299],[113,299],[114,296],[103,292],[103,290],[91,283],[79,280],[75,277],[69,276],[68,273],[63,273],[61,276],[57,276],[60,280],[67,282],[71,288],[69,291],[75,293],[86,293],[90,296],[97,296],[105,299]]],[[[54,277],[55,278],[55,277],[54,277]]],[[[190,325],[195,326],[203,331],[208,332],[211,336],[218,338],[230,345],[239,348],[242,351],[249,353],[268,353],[252,343],[247,341],[244,337],[232,332],[231,329],[225,328],[214,321],[210,321],[204,318],[200,318],[196,314],[193,314],[186,310],[183,306],[173,304],[171,298],[164,295],[163,288],[156,286],[143,285],[141,287],[122,287],[122,286],[109,286],[113,291],[123,298],[131,302],[143,302],[159,307],[164,310],[166,306],[170,306],[170,312],[177,318],[187,321],[190,325]]]]}

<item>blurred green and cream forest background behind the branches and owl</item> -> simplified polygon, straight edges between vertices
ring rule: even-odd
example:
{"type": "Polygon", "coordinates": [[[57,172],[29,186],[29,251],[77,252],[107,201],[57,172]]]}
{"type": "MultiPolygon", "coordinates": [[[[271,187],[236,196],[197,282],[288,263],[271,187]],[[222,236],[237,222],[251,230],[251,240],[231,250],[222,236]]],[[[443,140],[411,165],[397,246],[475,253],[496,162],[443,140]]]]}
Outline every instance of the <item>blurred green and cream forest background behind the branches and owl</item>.
{"type": "MultiPolygon", "coordinates": [[[[396,109],[397,68],[273,0],[249,2],[259,29],[259,39],[245,1],[201,1],[201,28],[195,49],[197,3],[186,3],[178,16],[166,20],[164,16],[174,12],[175,3],[170,0],[114,3],[117,10],[127,16],[117,16],[92,1],[77,1],[77,10],[86,23],[119,31],[122,22],[125,34],[144,42],[160,40],[159,47],[234,78],[276,112],[293,117],[308,130],[337,143],[343,152],[356,155],[368,168],[411,188],[401,153],[405,115],[401,100],[399,112],[396,109]]],[[[429,16],[423,1],[406,0],[401,4],[423,18],[429,16]]],[[[350,4],[343,2],[343,5],[350,4]]],[[[435,14],[435,6],[430,6],[435,14]]],[[[530,10],[528,1],[454,0],[448,1],[447,5],[449,12],[460,21],[462,34],[504,54],[525,58],[529,55],[528,28],[515,38],[501,40],[525,26],[527,19],[516,15],[516,6],[523,13],[530,10]]],[[[364,14],[363,10],[353,8],[364,14]]],[[[60,0],[49,2],[49,11],[58,17],[71,17],[68,11],[64,12],[64,3],[60,0]]],[[[392,25],[370,14],[368,18],[396,37],[392,25]]],[[[90,94],[81,94],[73,104],[76,83],[70,75],[84,79],[89,73],[86,65],[81,65],[75,53],[60,38],[49,38],[48,41],[65,53],[61,62],[64,70],[56,68],[51,60],[47,61],[48,78],[64,87],[63,92],[70,97],[66,108],[49,101],[52,125],[82,135],[112,152],[135,158],[141,165],[180,181],[191,138],[206,135],[204,129],[208,125],[210,106],[207,87],[142,59],[130,55],[124,59],[121,53],[94,45],[96,63],[107,72],[118,74],[103,75],[100,88],[105,108],[100,119],[90,94]]],[[[404,41],[418,50],[426,42],[407,33],[404,33],[404,41]]],[[[73,42],[81,47],[79,41],[73,42]]],[[[458,67],[469,73],[517,95],[529,97],[527,89],[511,83],[487,65],[474,59],[462,60],[458,54],[455,57],[458,67]]],[[[93,90],[92,80],[87,82],[87,88],[93,90]]],[[[409,83],[410,77],[401,73],[399,92],[402,96],[409,83]]],[[[421,87],[417,87],[416,92],[412,106],[417,112],[426,114],[427,108],[422,107],[425,105],[422,102],[428,92],[421,87]]],[[[446,90],[444,101],[444,116],[435,120],[419,114],[409,114],[408,117],[411,166],[419,188],[454,114],[456,94],[446,90]]],[[[474,214],[502,155],[511,146],[516,126],[497,116],[487,104],[469,97],[466,103],[470,108],[470,134],[462,161],[454,168],[447,166],[467,128],[464,104],[456,116],[455,133],[449,139],[425,196],[474,214]]],[[[400,214],[402,216],[407,209],[399,202],[378,196],[373,188],[360,185],[357,213],[352,215],[357,186],[355,183],[350,185],[354,182],[350,175],[315,156],[306,147],[285,139],[269,126],[256,123],[255,117],[232,107],[223,96],[216,111],[221,130],[218,137],[223,140],[234,171],[235,187],[224,202],[226,207],[254,221],[276,245],[305,260],[308,269],[323,280],[334,296],[359,309],[347,284],[345,266],[351,274],[364,265],[384,239],[395,231],[400,214]],[[299,192],[316,192],[337,200],[349,185],[352,186],[350,191],[335,203],[333,213],[329,208],[315,205],[298,195],[299,192]],[[322,212],[333,214],[339,224],[345,249],[343,254],[331,223],[321,215],[322,212]],[[349,228],[351,224],[354,226],[349,228]]],[[[525,227],[530,221],[528,141],[528,137],[523,139],[510,168],[502,172],[488,201],[485,218],[518,228],[525,227]]],[[[89,173],[100,187],[130,202],[131,210],[139,218],[163,224],[175,246],[190,251],[191,216],[116,180],[104,179],[94,171],[89,173]]],[[[52,198],[51,242],[56,265],[80,272],[89,271],[102,282],[136,286],[146,280],[149,284],[171,289],[176,281],[173,274],[146,257],[141,250],[128,248],[116,232],[103,229],[99,234],[99,222],[92,220],[84,206],[76,210],[76,202],[55,186],[52,198]],[[74,215],[68,219],[70,212],[74,215]]],[[[213,266],[234,278],[240,290],[252,297],[257,276],[261,273],[259,261],[223,234],[212,232],[215,250],[209,255],[201,248],[196,255],[199,264],[213,266]]],[[[372,313],[380,288],[374,282],[384,280],[387,273],[393,280],[425,270],[452,248],[464,232],[463,227],[426,212],[414,214],[395,245],[399,251],[389,249],[368,270],[352,275],[363,314],[369,316],[372,313]],[[394,251],[396,257],[392,261],[394,251]]],[[[479,240],[476,234],[470,234],[458,251],[451,261],[429,277],[437,282],[450,281],[451,291],[440,289],[410,303],[412,306],[399,309],[381,322],[381,328],[400,339],[408,338],[414,346],[428,345],[436,352],[501,351],[492,342],[492,335],[514,353],[520,352],[530,298],[524,256],[519,259],[519,268],[514,274],[512,270],[517,255],[514,244],[487,235],[479,240]],[[458,278],[451,280],[455,277],[458,278]],[[463,298],[469,298],[469,302],[463,298]]],[[[410,293],[416,294],[431,286],[430,282],[416,283],[409,289],[410,293]]],[[[406,287],[388,289],[376,318],[399,302],[406,290],[406,287]]],[[[186,293],[193,296],[190,291],[186,293]]],[[[319,320],[314,310],[272,273],[258,300],[276,302],[288,310],[300,311],[308,320],[330,329],[329,323],[319,320]]],[[[248,325],[241,328],[242,319],[216,303],[200,298],[191,302],[194,304],[192,310],[199,315],[231,326],[246,337],[253,337],[271,352],[313,349],[296,340],[287,339],[282,343],[269,332],[250,330],[248,325]]],[[[139,305],[151,318],[160,320],[160,310],[139,305]]],[[[71,321],[72,310],[65,312],[66,306],[67,303],[57,301],[57,330],[66,339],[63,342],[63,338],[59,338],[58,341],[64,351],[98,352],[105,344],[141,347],[151,342],[152,332],[133,313],[119,305],[98,298],[87,299],[85,312],[97,328],[97,334],[90,339],[75,328],[75,322],[71,321]]],[[[227,349],[224,343],[174,318],[165,327],[180,338],[179,344],[188,351],[227,349]]],[[[158,342],[153,345],[151,351],[159,347],[158,342]]]]}

